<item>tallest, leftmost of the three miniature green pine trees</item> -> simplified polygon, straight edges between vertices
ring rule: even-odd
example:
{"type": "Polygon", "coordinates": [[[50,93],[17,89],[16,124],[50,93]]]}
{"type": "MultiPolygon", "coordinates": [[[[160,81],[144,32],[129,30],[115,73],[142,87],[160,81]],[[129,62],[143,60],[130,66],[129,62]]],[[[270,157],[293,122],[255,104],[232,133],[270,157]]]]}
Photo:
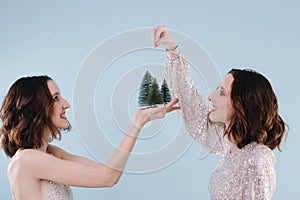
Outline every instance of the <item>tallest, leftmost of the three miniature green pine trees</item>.
{"type": "Polygon", "coordinates": [[[152,75],[146,71],[141,86],[140,86],[140,93],[139,93],[139,106],[148,106],[148,94],[153,82],[152,75]]]}

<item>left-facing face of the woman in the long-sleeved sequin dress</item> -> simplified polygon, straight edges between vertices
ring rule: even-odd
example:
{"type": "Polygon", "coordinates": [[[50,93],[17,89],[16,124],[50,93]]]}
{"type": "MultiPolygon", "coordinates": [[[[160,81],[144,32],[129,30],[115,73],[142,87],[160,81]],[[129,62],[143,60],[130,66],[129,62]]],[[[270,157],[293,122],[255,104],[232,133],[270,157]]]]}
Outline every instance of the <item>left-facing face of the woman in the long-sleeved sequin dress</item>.
{"type": "Polygon", "coordinates": [[[231,100],[231,86],[233,83],[232,74],[227,74],[219,87],[209,95],[208,99],[212,102],[212,109],[209,113],[209,119],[213,122],[223,122],[229,124],[233,107],[231,100]]]}

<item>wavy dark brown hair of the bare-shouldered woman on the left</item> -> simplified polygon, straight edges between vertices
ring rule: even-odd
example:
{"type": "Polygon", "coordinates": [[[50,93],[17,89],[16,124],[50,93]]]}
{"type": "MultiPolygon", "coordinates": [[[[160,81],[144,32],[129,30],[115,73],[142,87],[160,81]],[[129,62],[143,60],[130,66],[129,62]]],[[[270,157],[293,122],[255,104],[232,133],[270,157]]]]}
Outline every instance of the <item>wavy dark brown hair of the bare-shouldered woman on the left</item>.
{"type": "Polygon", "coordinates": [[[51,120],[53,97],[47,86],[48,76],[18,79],[9,89],[1,107],[1,146],[12,157],[19,148],[32,149],[43,145],[43,131],[52,138],[61,133],[51,120]]]}

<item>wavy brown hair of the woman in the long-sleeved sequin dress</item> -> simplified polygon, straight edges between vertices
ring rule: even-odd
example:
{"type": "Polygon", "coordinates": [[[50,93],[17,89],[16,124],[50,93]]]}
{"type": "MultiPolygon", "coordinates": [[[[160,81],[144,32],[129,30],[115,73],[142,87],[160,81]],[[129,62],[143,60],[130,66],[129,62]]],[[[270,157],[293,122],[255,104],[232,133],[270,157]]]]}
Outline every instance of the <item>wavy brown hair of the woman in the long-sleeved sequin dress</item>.
{"type": "Polygon", "coordinates": [[[280,151],[286,124],[278,114],[278,103],[269,81],[253,70],[232,69],[233,118],[224,135],[241,149],[250,142],[280,151]]]}

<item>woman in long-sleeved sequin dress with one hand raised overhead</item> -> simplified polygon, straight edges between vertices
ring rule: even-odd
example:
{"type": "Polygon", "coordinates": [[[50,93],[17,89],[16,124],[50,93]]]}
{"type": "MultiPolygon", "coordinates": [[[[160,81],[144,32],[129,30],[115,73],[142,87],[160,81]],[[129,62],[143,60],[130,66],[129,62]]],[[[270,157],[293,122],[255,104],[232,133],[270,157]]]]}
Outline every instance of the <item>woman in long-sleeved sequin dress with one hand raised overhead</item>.
{"type": "Polygon", "coordinates": [[[269,81],[252,70],[232,69],[207,100],[167,28],[155,28],[152,39],[154,47],[166,47],[166,78],[188,132],[221,156],[209,181],[211,199],[271,199],[276,185],[272,150],[280,150],[286,128],[269,81]]]}

